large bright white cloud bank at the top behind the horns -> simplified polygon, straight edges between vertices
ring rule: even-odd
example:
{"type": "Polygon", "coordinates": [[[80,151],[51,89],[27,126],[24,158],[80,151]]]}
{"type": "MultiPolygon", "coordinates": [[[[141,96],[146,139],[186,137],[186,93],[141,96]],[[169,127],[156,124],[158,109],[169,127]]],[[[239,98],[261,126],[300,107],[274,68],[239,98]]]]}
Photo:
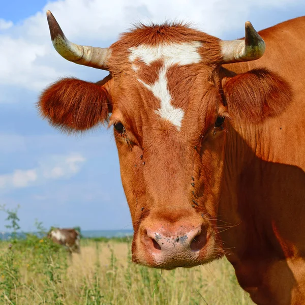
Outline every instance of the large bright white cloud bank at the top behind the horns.
{"type": "MultiPolygon", "coordinates": [[[[224,32],[242,29],[250,12],[255,9],[284,9],[298,4],[301,5],[302,0],[50,2],[42,12],[27,18],[21,25],[0,19],[0,29],[6,29],[5,34],[0,34],[0,85],[13,85],[38,92],[59,76],[80,76],[80,71],[89,71],[89,68],[82,70],[68,63],[53,50],[45,15],[48,9],[70,40],[105,47],[132,23],[139,21],[192,21],[203,31],[221,37],[224,32]]],[[[103,76],[101,73],[101,78],[103,76]]]]}

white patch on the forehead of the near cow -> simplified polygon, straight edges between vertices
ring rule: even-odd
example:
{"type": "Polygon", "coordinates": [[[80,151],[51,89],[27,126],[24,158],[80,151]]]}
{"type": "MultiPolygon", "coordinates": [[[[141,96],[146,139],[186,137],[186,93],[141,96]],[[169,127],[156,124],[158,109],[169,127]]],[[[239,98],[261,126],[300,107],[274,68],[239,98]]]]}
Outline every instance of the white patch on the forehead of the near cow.
{"type": "MultiPolygon", "coordinates": [[[[150,65],[155,60],[163,59],[164,67],[160,69],[159,78],[153,85],[148,85],[138,79],[154,96],[160,99],[161,104],[158,110],[155,110],[161,118],[169,120],[179,131],[184,117],[184,111],[181,108],[175,108],[171,105],[171,95],[167,88],[166,72],[173,65],[184,66],[197,64],[201,57],[198,48],[201,47],[199,41],[185,43],[171,43],[159,46],[140,45],[130,48],[129,60],[134,62],[136,59],[142,60],[146,65],[150,65]]],[[[134,71],[138,68],[132,65],[134,71]]]]}

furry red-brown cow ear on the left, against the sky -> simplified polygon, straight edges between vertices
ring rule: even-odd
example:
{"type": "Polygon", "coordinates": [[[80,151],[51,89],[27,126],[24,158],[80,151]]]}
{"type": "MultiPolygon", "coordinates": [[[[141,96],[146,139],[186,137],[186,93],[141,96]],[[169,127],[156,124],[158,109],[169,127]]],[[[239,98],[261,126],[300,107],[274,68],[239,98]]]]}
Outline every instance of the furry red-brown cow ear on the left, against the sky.
{"type": "Polygon", "coordinates": [[[104,123],[112,110],[105,84],[61,79],[44,90],[38,109],[52,126],[64,132],[88,130],[104,123]]]}

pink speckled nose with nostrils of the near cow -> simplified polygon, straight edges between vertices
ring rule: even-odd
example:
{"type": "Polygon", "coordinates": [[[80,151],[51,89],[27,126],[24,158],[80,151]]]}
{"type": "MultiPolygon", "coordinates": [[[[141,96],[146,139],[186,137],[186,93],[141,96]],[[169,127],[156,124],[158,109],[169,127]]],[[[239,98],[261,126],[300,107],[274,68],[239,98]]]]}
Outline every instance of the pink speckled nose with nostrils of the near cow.
{"type": "Polygon", "coordinates": [[[204,225],[154,224],[143,230],[141,244],[151,266],[174,268],[189,266],[198,260],[207,241],[204,225]],[[158,228],[158,229],[156,229],[158,228]]]}

